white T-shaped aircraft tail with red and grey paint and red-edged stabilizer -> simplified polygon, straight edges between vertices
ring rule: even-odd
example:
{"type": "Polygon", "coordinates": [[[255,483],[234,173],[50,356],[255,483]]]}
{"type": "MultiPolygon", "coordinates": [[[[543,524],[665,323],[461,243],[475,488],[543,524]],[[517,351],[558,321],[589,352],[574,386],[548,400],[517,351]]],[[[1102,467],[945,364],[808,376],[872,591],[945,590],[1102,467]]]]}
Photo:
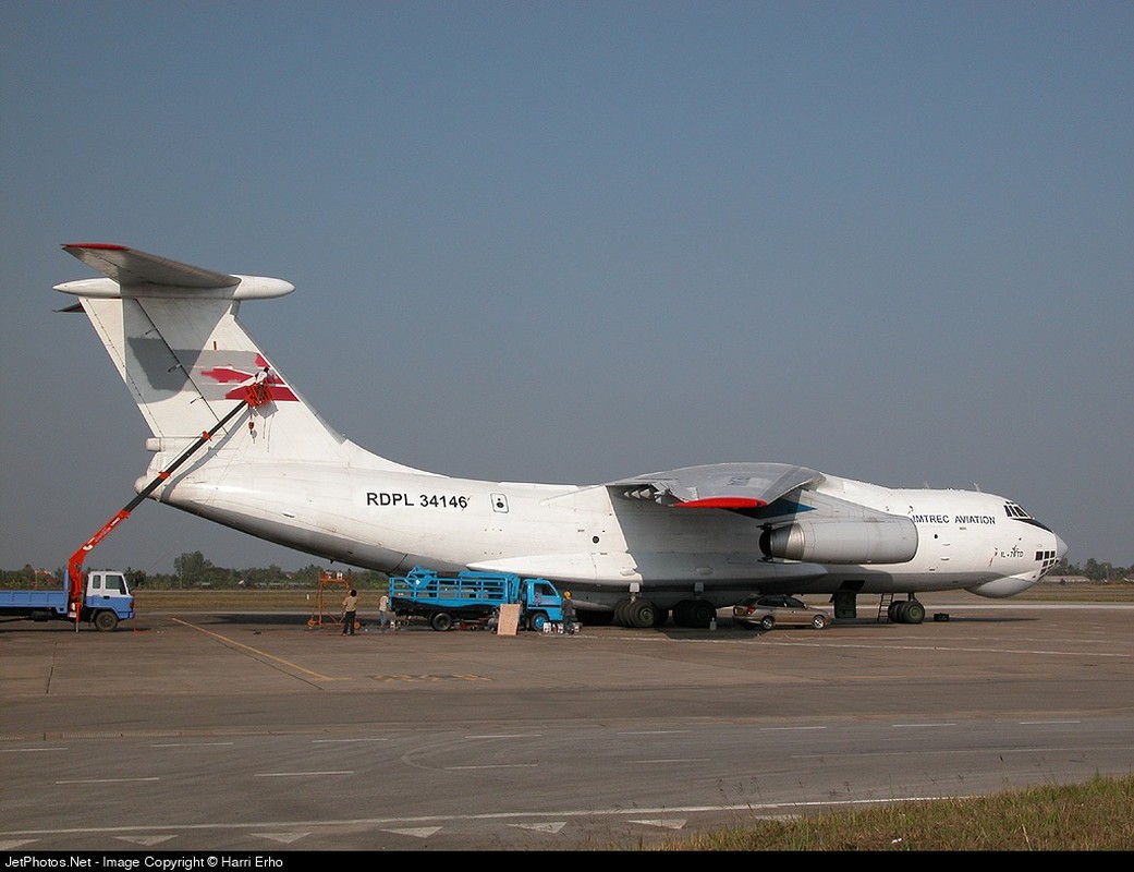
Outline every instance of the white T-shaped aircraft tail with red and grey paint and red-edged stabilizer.
{"type": "MultiPolygon", "coordinates": [[[[176,451],[210,430],[247,395],[266,386],[270,402],[243,452],[276,460],[318,460],[341,452],[344,438],[288,385],[237,320],[240,302],[282,296],[295,287],[278,278],[235,276],[178,263],[122,245],[64,245],[105,278],[57,285],[74,294],[134,394],[155,437],[151,447],[176,451]]],[[[243,418],[239,425],[244,426],[243,418]]]]}

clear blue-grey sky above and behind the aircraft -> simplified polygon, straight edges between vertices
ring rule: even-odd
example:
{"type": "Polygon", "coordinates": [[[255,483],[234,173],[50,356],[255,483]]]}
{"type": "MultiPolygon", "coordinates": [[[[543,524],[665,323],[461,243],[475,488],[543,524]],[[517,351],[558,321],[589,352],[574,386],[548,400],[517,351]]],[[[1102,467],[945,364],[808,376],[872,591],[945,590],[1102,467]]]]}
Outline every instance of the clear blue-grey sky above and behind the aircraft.
{"type": "MultiPolygon", "coordinates": [[[[0,568],[149,431],[53,285],[113,242],[355,442],[491,479],[777,461],[1134,563],[1134,3],[5,2],[0,568]]],[[[90,565],[319,562],[144,503],[90,565]]]]}

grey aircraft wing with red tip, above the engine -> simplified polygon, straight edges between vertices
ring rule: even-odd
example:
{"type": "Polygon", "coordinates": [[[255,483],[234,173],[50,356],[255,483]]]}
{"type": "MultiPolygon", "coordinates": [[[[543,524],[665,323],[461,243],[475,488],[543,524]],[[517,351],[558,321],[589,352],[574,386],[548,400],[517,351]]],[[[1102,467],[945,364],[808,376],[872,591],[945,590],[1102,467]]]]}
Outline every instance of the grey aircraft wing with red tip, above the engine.
{"type": "Polygon", "coordinates": [[[624,500],[648,500],[686,509],[761,509],[823,473],[788,463],[712,463],[609,481],[624,500]]]}

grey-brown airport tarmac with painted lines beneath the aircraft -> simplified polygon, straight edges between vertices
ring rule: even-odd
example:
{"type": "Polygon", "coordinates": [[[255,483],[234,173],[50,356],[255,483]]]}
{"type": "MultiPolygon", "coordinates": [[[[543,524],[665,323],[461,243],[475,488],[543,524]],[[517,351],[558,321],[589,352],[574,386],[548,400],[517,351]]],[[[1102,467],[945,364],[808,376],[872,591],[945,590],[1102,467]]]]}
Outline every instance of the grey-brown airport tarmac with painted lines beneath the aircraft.
{"type": "Polygon", "coordinates": [[[611,850],[1134,773],[1134,606],[866,600],[769,632],[0,622],[0,850],[611,850]]]}

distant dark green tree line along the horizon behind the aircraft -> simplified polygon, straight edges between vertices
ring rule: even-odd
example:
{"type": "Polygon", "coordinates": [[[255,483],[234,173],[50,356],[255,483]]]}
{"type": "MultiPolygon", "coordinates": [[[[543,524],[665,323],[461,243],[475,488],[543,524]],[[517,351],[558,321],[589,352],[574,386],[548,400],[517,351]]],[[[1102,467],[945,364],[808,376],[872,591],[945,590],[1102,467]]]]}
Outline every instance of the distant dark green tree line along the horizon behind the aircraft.
{"type": "MultiPolygon", "coordinates": [[[[0,570],[0,587],[54,587],[61,585],[65,569],[54,571],[34,569],[25,564],[23,569],[0,570]]],[[[154,587],[161,590],[183,588],[277,588],[316,587],[324,571],[349,575],[350,582],[358,589],[384,588],[386,575],[366,569],[331,569],[312,563],[310,567],[286,572],[276,564],[251,569],[225,569],[213,565],[200,551],[189,551],[174,561],[171,575],[146,575],[141,570],[127,569],[127,580],[133,587],[154,587]]],[[[1123,581],[1134,579],[1134,567],[1116,567],[1090,557],[1082,567],[1069,563],[1064,557],[1051,570],[1052,576],[1076,576],[1090,581],[1123,581]]]]}

